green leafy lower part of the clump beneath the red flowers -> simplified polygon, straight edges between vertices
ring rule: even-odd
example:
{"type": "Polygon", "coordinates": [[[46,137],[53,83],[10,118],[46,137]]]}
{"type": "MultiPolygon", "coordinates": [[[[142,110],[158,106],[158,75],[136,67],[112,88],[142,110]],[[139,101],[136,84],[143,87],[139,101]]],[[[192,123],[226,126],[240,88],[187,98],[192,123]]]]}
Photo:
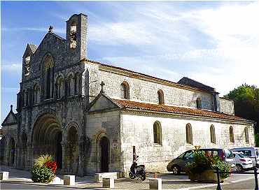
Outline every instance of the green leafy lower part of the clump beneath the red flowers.
{"type": "Polygon", "coordinates": [[[55,173],[45,166],[34,166],[31,169],[31,180],[40,183],[49,183],[55,178],[55,173]]]}

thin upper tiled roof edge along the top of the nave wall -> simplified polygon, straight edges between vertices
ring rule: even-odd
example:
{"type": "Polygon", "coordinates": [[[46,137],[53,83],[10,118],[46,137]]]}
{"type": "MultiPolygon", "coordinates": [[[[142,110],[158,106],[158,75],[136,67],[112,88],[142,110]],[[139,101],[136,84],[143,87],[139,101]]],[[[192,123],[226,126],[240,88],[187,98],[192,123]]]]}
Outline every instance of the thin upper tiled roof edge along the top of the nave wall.
{"type": "MultiPolygon", "coordinates": [[[[154,79],[158,79],[158,80],[163,80],[163,81],[165,81],[165,82],[172,83],[172,84],[177,85],[177,86],[179,86],[179,87],[188,87],[188,88],[191,88],[191,89],[198,89],[197,87],[190,87],[190,86],[187,86],[187,85],[181,85],[181,84],[179,84],[179,83],[177,83],[177,82],[172,82],[172,81],[170,81],[170,80],[165,80],[165,79],[157,78],[157,77],[154,77],[154,76],[151,76],[151,75],[147,75],[147,74],[144,74],[144,73],[139,73],[139,72],[137,72],[137,71],[132,71],[132,70],[127,69],[127,68],[122,68],[122,67],[119,67],[119,66],[113,66],[113,65],[109,65],[109,64],[103,64],[103,63],[101,63],[101,62],[99,62],[99,61],[93,61],[93,60],[86,59],[86,58],[82,59],[81,61],[88,61],[88,62],[90,62],[90,63],[99,64],[99,65],[107,66],[107,67],[110,67],[110,68],[116,68],[116,69],[123,70],[123,71],[127,71],[127,72],[130,72],[130,73],[135,73],[135,74],[137,74],[137,75],[144,75],[144,76],[146,76],[146,77],[148,77],[148,78],[154,78],[154,79]]],[[[209,91],[209,90],[207,90],[207,89],[200,89],[200,90],[205,91],[205,92],[211,92],[211,91],[209,91]]]]}

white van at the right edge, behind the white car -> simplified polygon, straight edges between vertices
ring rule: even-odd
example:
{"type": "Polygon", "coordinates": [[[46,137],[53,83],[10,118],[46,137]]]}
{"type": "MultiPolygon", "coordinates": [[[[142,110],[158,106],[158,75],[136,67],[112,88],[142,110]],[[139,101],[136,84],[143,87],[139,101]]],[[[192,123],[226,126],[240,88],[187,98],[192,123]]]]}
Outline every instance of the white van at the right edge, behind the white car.
{"type": "Polygon", "coordinates": [[[239,147],[230,149],[232,152],[242,152],[253,161],[253,166],[259,166],[259,147],[239,147]]]}

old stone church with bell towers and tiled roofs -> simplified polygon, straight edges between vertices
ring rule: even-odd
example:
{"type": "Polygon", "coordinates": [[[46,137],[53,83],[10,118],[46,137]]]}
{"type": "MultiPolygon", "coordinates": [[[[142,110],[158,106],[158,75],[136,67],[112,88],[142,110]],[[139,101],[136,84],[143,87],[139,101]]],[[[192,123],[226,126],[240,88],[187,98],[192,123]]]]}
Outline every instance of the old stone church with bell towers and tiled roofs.
{"type": "Polygon", "coordinates": [[[255,145],[254,122],[235,116],[213,87],[88,59],[87,27],[87,15],[75,14],[66,38],[50,26],[39,45],[27,45],[17,113],[11,106],[2,123],[1,164],[29,169],[51,154],[59,173],[127,174],[138,155],[147,171],[165,172],[195,145],[255,145]]]}

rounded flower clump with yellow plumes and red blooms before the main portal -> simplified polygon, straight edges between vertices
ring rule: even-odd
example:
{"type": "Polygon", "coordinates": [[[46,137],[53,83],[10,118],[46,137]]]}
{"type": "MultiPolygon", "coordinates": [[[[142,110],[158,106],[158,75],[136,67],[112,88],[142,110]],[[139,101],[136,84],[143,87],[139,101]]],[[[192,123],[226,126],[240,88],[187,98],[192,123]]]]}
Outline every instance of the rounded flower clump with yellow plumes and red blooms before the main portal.
{"type": "Polygon", "coordinates": [[[41,155],[35,159],[31,168],[31,180],[33,182],[50,183],[55,178],[57,163],[50,155],[41,155]]]}

